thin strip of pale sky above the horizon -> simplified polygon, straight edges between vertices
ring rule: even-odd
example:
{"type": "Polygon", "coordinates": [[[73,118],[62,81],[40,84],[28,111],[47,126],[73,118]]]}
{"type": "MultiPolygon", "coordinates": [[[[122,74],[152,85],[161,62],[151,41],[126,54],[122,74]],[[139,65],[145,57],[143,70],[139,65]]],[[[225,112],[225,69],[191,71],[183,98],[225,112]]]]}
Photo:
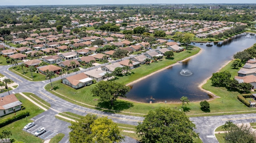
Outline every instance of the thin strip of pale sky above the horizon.
{"type": "Polygon", "coordinates": [[[255,0],[0,0],[6,5],[256,3],[255,0]]]}

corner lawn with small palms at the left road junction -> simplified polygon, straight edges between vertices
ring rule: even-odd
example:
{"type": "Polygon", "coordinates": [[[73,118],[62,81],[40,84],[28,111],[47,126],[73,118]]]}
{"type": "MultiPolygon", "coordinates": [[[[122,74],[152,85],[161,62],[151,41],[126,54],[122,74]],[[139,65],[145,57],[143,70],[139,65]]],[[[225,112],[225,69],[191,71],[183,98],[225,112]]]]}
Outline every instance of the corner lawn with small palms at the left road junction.
{"type": "MultiPolygon", "coordinates": [[[[31,73],[30,73],[30,71],[28,70],[28,68],[27,67],[24,67],[23,68],[24,69],[24,73],[23,73],[23,71],[22,71],[22,69],[20,68],[20,67],[11,67],[9,70],[11,71],[11,72],[14,72],[15,74],[18,74],[19,76],[22,76],[23,78],[25,78],[25,79],[27,79],[27,80],[29,80],[29,81],[33,81],[33,78],[32,78],[32,76],[31,76],[31,73]]],[[[40,74],[39,72],[38,73],[36,73],[36,72],[33,72],[32,73],[33,74],[33,76],[34,76],[34,81],[43,81],[43,80],[46,80],[45,79],[45,75],[44,74],[40,74]]]]}

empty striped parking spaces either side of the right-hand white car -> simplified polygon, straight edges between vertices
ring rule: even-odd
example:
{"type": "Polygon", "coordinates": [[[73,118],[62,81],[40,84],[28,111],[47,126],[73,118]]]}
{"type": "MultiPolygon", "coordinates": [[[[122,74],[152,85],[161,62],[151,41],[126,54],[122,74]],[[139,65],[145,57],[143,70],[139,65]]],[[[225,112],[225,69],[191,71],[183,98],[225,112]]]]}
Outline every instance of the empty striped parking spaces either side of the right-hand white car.
{"type": "MultiPolygon", "coordinates": [[[[42,126],[39,126],[39,125],[34,125],[33,127],[25,130],[25,129],[22,129],[24,131],[27,131],[28,133],[32,133],[33,135],[36,133],[36,131],[38,129],[40,129],[42,126]]],[[[42,133],[41,135],[38,135],[38,137],[40,137],[41,139],[44,139],[44,140],[48,140],[48,139],[51,139],[53,138],[55,135],[57,135],[58,133],[54,132],[54,131],[50,131],[50,130],[47,130],[46,129],[46,132],[42,133]]]]}

